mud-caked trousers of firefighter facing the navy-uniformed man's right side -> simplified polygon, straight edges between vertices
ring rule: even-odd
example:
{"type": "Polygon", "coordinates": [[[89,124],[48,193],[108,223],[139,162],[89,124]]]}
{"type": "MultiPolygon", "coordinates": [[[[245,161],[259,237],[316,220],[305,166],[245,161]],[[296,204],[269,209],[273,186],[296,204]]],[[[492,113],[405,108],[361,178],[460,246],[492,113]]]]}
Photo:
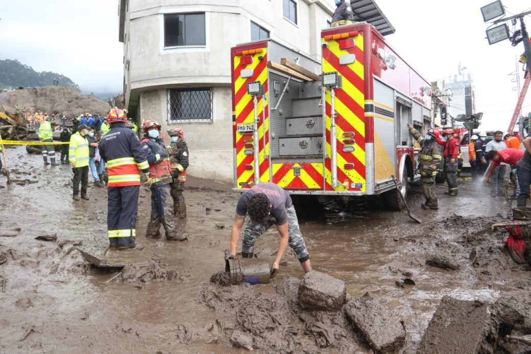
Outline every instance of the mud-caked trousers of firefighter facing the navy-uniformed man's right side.
{"type": "Polygon", "coordinates": [[[177,237],[169,184],[151,188],[151,218],[145,235],[158,237],[161,224],[164,226],[167,239],[177,237]]]}

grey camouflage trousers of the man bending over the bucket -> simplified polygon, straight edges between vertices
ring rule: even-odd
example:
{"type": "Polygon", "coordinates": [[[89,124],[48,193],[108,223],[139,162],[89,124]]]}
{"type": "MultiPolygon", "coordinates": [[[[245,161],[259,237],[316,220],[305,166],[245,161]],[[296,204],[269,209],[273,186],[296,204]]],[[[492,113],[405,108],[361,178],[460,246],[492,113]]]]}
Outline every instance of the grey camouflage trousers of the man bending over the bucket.
{"type": "MultiPolygon", "coordinates": [[[[308,250],[306,249],[304,239],[302,238],[301,230],[299,229],[295,207],[290,206],[286,209],[286,212],[288,215],[289,247],[293,249],[299,262],[306,262],[306,260],[310,259],[310,256],[308,254],[308,250]]],[[[247,223],[247,226],[243,231],[242,254],[252,253],[256,239],[258,239],[258,237],[267,231],[267,229],[269,229],[269,227],[271,227],[273,224],[275,224],[274,218],[270,218],[267,222],[262,224],[253,224],[252,222],[247,223]]]]}

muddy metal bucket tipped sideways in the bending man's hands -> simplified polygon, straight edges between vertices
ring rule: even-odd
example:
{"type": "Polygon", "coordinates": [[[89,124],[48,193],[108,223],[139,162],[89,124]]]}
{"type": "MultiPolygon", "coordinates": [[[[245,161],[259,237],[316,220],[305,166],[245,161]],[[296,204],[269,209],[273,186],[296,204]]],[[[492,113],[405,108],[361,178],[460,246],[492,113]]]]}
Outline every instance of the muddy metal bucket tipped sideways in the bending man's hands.
{"type": "Polygon", "coordinates": [[[225,260],[225,272],[229,273],[230,284],[269,284],[269,264],[256,258],[235,258],[225,260]]]}

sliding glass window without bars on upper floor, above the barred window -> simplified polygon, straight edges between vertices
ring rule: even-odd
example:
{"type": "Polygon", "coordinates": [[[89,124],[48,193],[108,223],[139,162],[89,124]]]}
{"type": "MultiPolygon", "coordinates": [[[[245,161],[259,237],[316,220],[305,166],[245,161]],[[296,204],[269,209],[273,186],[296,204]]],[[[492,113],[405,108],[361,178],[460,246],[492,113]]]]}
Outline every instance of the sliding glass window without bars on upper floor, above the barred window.
{"type": "Polygon", "coordinates": [[[164,46],[204,46],[204,13],[164,15],[164,46]]]}

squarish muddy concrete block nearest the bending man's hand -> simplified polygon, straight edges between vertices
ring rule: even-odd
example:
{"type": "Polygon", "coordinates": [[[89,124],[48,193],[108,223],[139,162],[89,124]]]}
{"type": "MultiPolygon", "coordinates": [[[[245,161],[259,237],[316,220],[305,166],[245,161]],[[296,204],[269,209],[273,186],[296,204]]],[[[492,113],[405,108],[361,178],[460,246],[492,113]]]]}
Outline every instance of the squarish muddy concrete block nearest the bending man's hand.
{"type": "Polygon", "coordinates": [[[310,271],[298,287],[301,306],[312,310],[338,310],[345,304],[345,282],[330,275],[310,271]]]}

